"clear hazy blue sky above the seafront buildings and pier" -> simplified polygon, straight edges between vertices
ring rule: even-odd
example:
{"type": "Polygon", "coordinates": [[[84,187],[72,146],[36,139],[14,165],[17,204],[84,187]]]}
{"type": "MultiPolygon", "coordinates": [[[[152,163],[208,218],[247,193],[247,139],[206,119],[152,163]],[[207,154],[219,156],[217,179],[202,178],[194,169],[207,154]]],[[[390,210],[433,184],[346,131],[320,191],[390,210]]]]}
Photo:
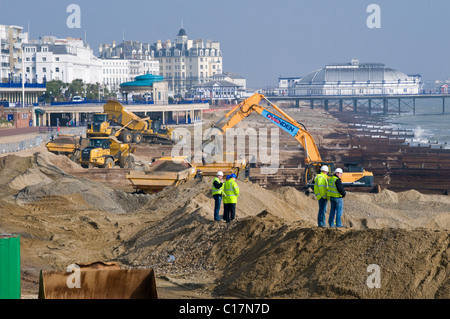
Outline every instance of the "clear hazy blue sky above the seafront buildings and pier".
{"type": "Polygon", "coordinates": [[[29,25],[34,39],[86,35],[96,55],[123,34],[173,41],[183,26],[190,39],[219,41],[223,71],[245,77],[249,89],[353,58],[424,82],[450,78],[448,0],[0,0],[0,24],[29,25]],[[80,7],[79,28],[67,24],[70,4],[80,7]]]}

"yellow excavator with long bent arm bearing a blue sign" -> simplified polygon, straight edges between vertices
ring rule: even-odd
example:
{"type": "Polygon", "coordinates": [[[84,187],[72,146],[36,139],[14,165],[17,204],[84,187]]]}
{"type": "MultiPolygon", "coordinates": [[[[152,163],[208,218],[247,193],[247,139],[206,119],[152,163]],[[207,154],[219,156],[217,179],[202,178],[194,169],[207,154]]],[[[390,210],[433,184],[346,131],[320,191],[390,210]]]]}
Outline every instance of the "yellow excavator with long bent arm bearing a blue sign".
{"type": "MultiPolygon", "coordinates": [[[[232,110],[225,114],[219,121],[212,125],[212,128],[220,130],[220,134],[225,134],[228,129],[234,127],[240,121],[248,117],[253,112],[257,112],[268,121],[274,123],[279,128],[294,137],[305,150],[305,175],[304,185],[310,187],[314,183],[314,178],[317,173],[320,172],[320,168],[323,165],[328,166],[330,174],[335,170],[335,166],[332,162],[324,161],[317,149],[317,145],[306,130],[303,124],[297,123],[292,117],[287,115],[276,104],[270,102],[264,95],[255,93],[251,97],[245,99],[240,104],[236,105],[232,110]],[[278,114],[271,112],[259,105],[261,100],[265,100],[271,105],[278,114]],[[225,123],[221,124],[222,122],[225,123]]],[[[202,148],[205,149],[211,140],[206,140],[202,143],[202,148]]],[[[363,168],[353,167],[351,171],[346,171],[342,174],[342,183],[344,186],[360,186],[360,187],[373,187],[373,173],[365,171],[363,168]]]]}

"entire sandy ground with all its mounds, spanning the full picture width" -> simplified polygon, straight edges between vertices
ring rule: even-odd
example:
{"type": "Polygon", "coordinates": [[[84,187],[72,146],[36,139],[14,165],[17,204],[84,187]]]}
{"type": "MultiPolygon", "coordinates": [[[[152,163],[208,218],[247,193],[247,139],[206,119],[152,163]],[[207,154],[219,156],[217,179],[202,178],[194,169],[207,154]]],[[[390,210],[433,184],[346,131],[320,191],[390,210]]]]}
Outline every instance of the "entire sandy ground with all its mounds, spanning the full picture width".
{"type": "Polygon", "coordinates": [[[211,296],[450,297],[447,196],[348,192],[351,227],[332,230],[316,227],[314,196],[238,181],[227,225],[213,221],[212,178],[137,195],[74,177],[70,163],[50,153],[0,158],[0,232],[22,235],[24,281],[36,291],[36,269],[116,260],[211,296]],[[366,284],[371,264],[381,289],[366,284]]]}

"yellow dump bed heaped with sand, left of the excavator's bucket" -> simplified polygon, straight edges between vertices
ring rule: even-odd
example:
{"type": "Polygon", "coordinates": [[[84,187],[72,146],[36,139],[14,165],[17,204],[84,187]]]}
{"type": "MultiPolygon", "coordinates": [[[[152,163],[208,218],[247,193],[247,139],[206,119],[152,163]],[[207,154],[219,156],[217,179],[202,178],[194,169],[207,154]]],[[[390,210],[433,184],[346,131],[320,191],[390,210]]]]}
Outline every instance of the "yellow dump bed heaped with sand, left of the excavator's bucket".
{"type": "Polygon", "coordinates": [[[196,176],[196,167],[185,156],[161,157],[148,170],[133,170],[127,179],[134,189],[144,193],[158,193],[166,187],[175,187],[196,176]]]}

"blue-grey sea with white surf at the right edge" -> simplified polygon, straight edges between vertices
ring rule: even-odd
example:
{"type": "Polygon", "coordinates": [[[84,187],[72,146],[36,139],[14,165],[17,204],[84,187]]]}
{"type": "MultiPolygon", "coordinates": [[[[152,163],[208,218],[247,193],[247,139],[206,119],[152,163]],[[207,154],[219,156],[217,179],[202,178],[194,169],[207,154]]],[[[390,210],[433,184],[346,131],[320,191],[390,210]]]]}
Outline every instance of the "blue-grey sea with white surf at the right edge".
{"type": "Polygon", "coordinates": [[[412,107],[403,107],[401,114],[383,116],[388,127],[411,130],[414,137],[407,140],[411,146],[442,147],[450,149],[450,99],[446,99],[443,113],[442,99],[417,99],[415,114],[412,107]]]}

